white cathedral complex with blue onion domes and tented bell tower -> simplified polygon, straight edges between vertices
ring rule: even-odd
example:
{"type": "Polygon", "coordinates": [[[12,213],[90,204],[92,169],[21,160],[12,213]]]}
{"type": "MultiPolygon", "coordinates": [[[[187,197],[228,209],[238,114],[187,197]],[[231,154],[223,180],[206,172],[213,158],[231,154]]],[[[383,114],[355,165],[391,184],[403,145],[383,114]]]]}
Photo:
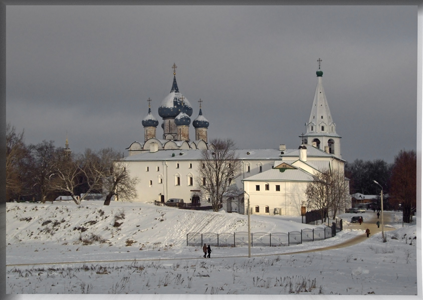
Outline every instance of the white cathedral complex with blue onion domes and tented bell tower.
{"type": "MultiPolygon", "coordinates": [[[[275,149],[238,149],[241,175],[231,183],[230,195],[224,208],[228,212],[257,214],[301,215],[305,189],[313,174],[328,168],[344,170],[340,139],[322,85],[323,72],[317,70],[317,86],[299,148],[289,149],[280,144],[275,149]]],[[[173,64],[170,93],[162,100],[158,114],[162,118],[163,134],[158,138],[159,121],[151,112],[142,120],[144,141],[134,141],[123,157],[131,176],[139,179],[138,198],[142,202],[165,202],[182,198],[185,203],[210,205],[197,186],[198,166],[202,149],[213,147],[207,141],[208,120],[202,115],[201,99],[198,116],[192,121],[195,139],[189,138],[190,116],[193,109],[176,83],[173,64]]],[[[201,179],[201,178],[199,178],[201,179]]],[[[346,180],[346,184],[348,179],[346,180]]],[[[349,205],[350,207],[350,205],[349,205]]],[[[346,207],[345,207],[346,208],[346,207]]]]}

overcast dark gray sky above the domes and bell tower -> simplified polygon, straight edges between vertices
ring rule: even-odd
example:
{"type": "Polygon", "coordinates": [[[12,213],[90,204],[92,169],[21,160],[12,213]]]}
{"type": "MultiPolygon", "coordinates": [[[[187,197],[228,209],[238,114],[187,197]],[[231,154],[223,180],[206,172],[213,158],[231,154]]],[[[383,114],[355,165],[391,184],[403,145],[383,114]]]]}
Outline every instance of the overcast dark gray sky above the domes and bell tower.
{"type": "Polygon", "coordinates": [[[6,28],[7,122],[27,144],[126,155],[176,63],[209,138],[297,148],[321,58],[344,159],[416,148],[416,6],[8,6],[6,28]]]}

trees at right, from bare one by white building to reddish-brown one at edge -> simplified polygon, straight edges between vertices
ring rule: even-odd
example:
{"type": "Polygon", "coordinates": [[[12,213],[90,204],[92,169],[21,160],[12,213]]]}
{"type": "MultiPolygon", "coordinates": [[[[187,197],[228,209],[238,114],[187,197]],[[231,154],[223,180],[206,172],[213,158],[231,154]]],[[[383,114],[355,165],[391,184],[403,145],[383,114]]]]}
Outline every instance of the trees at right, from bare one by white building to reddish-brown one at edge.
{"type": "MultiPolygon", "coordinates": [[[[392,164],[382,159],[363,161],[356,159],[345,165],[345,175],[341,170],[325,170],[314,174],[307,185],[307,201],[303,204],[321,211],[322,221],[328,211],[333,219],[336,212],[347,207],[349,193],[380,194],[380,186],[385,195],[389,193],[391,208],[402,208],[403,221],[410,222],[416,208],[416,154],[415,151],[401,150],[392,164]],[[345,180],[345,176],[349,178],[345,180]]],[[[380,197],[377,197],[380,201],[380,197]]],[[[386,203],[386,202],[385,202],[386,203]]]]}

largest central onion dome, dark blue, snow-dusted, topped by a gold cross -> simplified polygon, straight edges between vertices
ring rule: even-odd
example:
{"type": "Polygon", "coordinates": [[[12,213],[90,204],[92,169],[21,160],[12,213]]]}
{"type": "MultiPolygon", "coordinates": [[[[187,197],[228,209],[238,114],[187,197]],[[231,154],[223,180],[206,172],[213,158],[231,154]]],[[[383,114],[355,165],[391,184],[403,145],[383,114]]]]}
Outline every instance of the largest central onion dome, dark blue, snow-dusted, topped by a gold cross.
{"type": "Polygon", "coordinates": [[[176,65],[173,64],[173,83],[170,93],[161,101],[158,108],[158,113],[161,117],[176,117],[181,111],[184,111],[188,116],[192,114],[192,107],[186,98],[182,99],[182,94],[179,92],[178,84],[176,83],[176,72],[174,69],[176,65]]]}

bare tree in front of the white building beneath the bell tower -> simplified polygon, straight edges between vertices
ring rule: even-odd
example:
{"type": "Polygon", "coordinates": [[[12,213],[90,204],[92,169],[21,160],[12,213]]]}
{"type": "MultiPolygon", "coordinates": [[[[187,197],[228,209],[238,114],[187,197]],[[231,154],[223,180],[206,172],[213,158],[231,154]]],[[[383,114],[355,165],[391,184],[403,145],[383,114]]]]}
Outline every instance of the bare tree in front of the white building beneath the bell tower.
{"type": "Polygon", "coordinates": [[[345,208],[349,187],[341,169],[326,169],[313,175],[313,181],[307,184],[305,193],[307,200],[303,204],[320,210],[324,222],[326,211],[331,211],[335,219],[336,213],[345,208]]]}

